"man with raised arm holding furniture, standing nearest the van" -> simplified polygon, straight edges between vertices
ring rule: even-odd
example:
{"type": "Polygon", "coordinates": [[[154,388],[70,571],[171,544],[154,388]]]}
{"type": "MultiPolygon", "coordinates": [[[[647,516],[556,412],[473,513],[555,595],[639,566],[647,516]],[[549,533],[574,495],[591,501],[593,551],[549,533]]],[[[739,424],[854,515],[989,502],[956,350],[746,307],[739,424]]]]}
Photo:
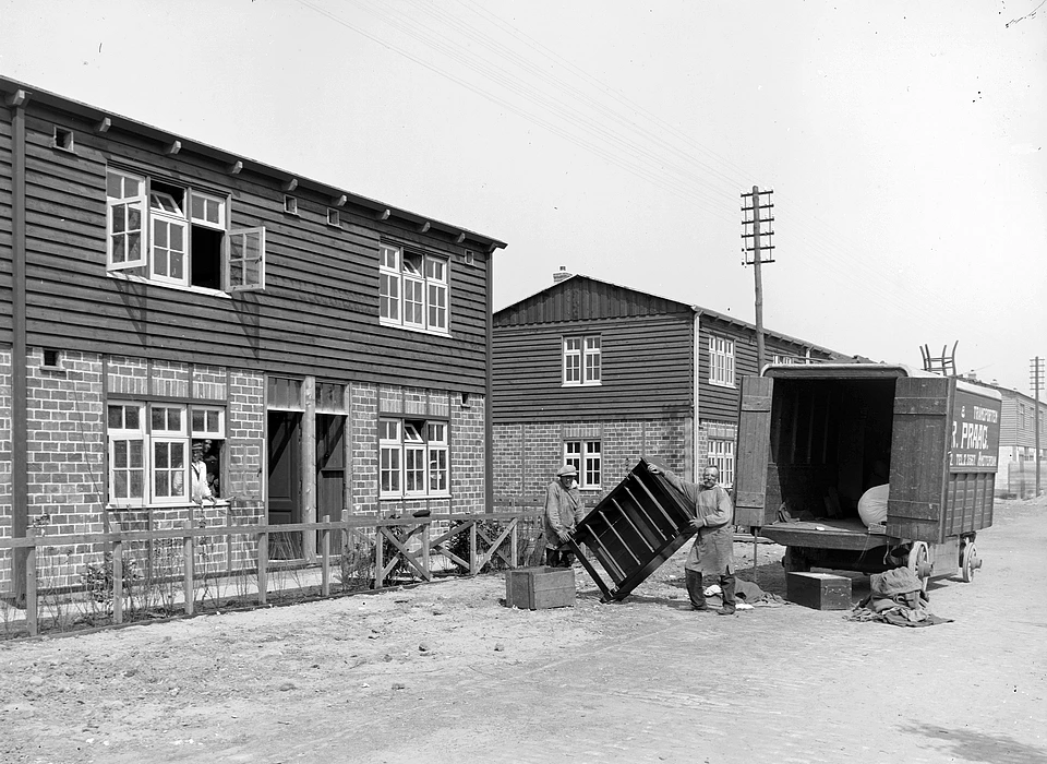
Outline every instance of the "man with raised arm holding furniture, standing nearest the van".
{"type": "Polygon", "coordinates": [[[710,609],[706,604],[701,578],[703,575],[717,576],[723,593],[723,607],[717,612],[721,616],[734,614],[734,505],[727,492],[717,485],[720,470],[706,467],[701,473],[701,484],[695,485],[681,480],[672,471],[654,464],[648,464],[648,469],[655,475],[664,475],[676,490],[695,503],[695,518],[690,524],[698,535],[684,563],[690,607],[701,611],[710,609]]]}

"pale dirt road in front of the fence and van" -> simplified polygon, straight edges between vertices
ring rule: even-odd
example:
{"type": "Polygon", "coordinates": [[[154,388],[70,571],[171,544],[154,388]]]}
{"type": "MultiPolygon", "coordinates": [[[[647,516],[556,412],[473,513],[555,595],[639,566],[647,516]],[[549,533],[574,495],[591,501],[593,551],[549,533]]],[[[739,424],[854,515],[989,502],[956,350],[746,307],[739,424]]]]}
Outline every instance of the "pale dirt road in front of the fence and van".
{"type": "Polygon", "coordinates": [[[926,629],[693,613],[682,551],[617,605],[579,574],[574,608],[507,609],[493,574],[5,644],[0,761],[1045,762],[1045,549],[1047,500],[999,502],[926,629]]]}

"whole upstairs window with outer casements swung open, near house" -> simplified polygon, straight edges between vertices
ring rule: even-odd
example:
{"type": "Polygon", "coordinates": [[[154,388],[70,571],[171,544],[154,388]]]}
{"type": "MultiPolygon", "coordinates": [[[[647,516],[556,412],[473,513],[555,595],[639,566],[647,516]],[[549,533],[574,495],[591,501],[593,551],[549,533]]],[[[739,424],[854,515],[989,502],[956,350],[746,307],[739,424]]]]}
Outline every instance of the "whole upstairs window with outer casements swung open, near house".
{"type": "Polygon", "coordinates": [[[109,275],[226,293],[265,288],[265,228],[230,228],[226,198],[109,168],[106,200],[109,275]]]}

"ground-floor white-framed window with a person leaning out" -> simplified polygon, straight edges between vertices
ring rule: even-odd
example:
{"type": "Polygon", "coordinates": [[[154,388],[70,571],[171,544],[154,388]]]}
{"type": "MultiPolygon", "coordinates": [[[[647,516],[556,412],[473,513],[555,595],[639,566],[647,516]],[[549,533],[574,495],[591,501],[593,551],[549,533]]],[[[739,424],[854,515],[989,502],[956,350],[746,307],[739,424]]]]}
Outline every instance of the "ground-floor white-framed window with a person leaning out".
{"type": "Polygon", "coordinates": [[[225,416],[219,406],[110,401],[109,503],[145,506],[189,502],[190,464],[196,443],[203,449],[208,487],[219,497],[225,416]]]}

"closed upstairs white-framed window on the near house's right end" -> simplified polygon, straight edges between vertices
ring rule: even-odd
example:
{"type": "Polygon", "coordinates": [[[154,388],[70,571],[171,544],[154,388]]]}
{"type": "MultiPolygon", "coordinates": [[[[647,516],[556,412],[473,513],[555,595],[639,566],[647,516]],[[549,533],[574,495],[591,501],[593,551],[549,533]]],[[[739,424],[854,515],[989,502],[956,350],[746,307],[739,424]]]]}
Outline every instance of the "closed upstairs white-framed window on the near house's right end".
{"type": "Polygon", "coordinates": [[[447,261],[382,244],[378,248],[378,318],[386,325],[447,334],[447,261]]]}

